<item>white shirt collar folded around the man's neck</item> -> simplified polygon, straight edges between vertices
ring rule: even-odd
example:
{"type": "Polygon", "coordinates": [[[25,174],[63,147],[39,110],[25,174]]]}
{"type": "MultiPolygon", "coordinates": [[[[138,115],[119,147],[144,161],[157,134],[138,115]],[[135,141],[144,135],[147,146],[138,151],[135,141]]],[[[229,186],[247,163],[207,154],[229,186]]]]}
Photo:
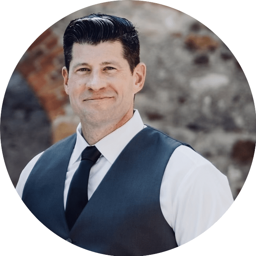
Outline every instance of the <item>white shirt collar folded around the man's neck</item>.
{"type": "MultiPolygon", "coordinates": [[[[95,144],[99,152],[111,164],[114,163],[118,155],[122,152],[130,140],[144,128],[144,124],[138,110],[134,109],[134,111],[135,112],[129,121],[95,144]]],[[[76,145],[74,147],[72,157],[70,158],[70,161],[73,163],[80,160],[82,151],[89,146],[81,135],[81,123],[79,123],[77,126],[76,133],[76,145]]]]}

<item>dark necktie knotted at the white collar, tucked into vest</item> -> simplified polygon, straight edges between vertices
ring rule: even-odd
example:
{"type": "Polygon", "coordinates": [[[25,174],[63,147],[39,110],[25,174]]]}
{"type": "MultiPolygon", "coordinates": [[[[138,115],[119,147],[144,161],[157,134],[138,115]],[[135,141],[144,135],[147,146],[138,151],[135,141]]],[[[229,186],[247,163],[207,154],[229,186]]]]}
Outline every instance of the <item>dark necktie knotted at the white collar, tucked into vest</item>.
{"type": "Polygon", "coordinates": [[[66,201],[66,220],[71,229],[88,203],[88,179],[90,169],[97,162],[101,153],[95,146],[86,147],[81,156],[81,162],[77,168],[68,190],[66,201]]]}

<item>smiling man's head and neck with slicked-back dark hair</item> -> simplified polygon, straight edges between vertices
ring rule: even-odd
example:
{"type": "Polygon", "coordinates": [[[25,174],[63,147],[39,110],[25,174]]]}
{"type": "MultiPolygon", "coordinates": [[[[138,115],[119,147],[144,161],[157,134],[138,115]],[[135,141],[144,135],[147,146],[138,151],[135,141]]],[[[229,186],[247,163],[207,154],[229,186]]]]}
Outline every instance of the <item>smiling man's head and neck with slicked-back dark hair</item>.
{"type": "Polygon", "coordinates": [[[64,88],[83,134],[89,126],[92,131],[105,127],[108,134],[133,116],[146,66],[131,22],[103,14],[72,21],[64,34],[64,55],[64,88]]]}

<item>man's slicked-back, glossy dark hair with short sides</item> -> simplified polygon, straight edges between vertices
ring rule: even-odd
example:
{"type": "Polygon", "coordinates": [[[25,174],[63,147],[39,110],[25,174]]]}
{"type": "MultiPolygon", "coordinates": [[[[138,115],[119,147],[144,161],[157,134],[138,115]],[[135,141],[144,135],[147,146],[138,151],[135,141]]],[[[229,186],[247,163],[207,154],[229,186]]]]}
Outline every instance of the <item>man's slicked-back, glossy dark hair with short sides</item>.
{"type": "Polygon", "coordinates": [[[72,20],[63,36],[65,66],[69,71],[74,43],[97,45],[106,41],[119,41],[123,46],[123,57],[131,72],[140,63],[138,31],[125,19],[102,13],[91,14],[72,20]]]}

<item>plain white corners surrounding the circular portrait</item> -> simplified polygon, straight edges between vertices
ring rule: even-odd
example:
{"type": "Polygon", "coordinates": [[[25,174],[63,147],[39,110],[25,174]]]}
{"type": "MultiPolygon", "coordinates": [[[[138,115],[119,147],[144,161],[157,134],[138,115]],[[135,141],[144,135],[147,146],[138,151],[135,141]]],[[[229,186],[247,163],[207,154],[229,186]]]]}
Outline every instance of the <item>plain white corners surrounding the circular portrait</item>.
{"type": "MultiPolygon", "coordinates": [[[[6,86],[15,66],[28,46],[47,28],[61,18],[84,7],[102,1],[44,1],[43,6],[35,9],[34,2],[25,0],[7,2],[2,15],[2,87],[1,102],[6,86]],[[14,8],[15,7],[15,8],[14,8]],[[40,11],[40,13],[39,13],[40,11]],[[36,17],[40,17],[39,22],[36,17]],[[34,20],[37,20],[34,22],[34,20]]],[[[217,0],[206,3],[203,0],[181,0],[169,2],[154,1],[158,4],[173,7],[202,22],[216,33],[235,55],[243,68],[255,98],[256,87],[253,83],[253,59],[255,57],[253,8],[249,0],[241,4],[217,0]]],[[[67,243],[44,227],[29,212],[15,192],[9,179],[3,157],[1,167],[1,199],[2,199],[2,251],[8,255],[26,253],[26,255],[98,255],[67,243]]],[[[252,162],[249,176],[236,201],[223,217],[201,236],[181,247],[162,252],[158,255],[241,255],[245,251],[253,251],[254,245],[254,201],[256,160],[252,162]]]]}

